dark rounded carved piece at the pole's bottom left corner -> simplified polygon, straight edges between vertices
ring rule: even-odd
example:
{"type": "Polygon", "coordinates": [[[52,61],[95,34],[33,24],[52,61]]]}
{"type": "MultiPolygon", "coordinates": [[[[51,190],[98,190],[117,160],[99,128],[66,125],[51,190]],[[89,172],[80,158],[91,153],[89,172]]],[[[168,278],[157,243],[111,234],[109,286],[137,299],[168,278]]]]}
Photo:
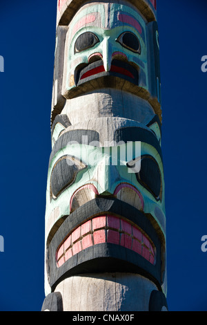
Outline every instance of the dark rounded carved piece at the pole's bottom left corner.
{"type": "Polygon", "coordinates": [[[63,311],[61,293],[50,293],[43,301],[41,311],[63,311]]]}

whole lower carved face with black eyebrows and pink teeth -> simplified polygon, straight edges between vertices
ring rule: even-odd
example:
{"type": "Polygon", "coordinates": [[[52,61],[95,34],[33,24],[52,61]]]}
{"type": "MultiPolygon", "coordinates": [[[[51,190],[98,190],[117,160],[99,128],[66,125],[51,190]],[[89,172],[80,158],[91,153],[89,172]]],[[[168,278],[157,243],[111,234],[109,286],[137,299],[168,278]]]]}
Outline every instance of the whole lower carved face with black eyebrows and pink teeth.
{"type": "Polygon", "coordinates": [[[78,133],[79,139],[77,130],[62,133],[50,156],[50,286],[86,270],[139,272],[161,286],[164,171],[155,134],[126,127],[102,147],[97,131],[78,133]]]}

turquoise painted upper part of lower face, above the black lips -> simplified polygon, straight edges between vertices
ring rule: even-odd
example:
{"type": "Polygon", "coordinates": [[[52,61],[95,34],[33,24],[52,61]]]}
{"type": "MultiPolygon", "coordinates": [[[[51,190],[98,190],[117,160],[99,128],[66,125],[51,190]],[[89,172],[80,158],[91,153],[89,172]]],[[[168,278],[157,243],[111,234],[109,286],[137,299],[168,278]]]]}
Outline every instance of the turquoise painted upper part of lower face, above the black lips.
{"type": "Polygon", "coordinates": [[[151,214],[165,236],[164,170],[151,145],[119,142],[99,147],[96,141],[90,145],[75,141],[57,151],[48,171],[48,227],[54,223],[55,210],[58,220],[99,196],[118,198],[151,214]]]}

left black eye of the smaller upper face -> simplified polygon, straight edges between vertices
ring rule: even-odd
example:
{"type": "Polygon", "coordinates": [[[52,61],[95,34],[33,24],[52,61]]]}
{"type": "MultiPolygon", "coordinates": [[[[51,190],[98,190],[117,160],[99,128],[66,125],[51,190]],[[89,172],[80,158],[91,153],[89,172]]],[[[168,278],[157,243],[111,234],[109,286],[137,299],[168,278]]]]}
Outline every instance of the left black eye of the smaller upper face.
{"type": "Polygon", "coordinates": [[[79,53],[82,50],[92,48],[92,46],[95,46],[97,43],[99,43],[97,35],[93,32],[83,32],[83,34],[81,34],[75,41],[74,53],[79,53]]]}

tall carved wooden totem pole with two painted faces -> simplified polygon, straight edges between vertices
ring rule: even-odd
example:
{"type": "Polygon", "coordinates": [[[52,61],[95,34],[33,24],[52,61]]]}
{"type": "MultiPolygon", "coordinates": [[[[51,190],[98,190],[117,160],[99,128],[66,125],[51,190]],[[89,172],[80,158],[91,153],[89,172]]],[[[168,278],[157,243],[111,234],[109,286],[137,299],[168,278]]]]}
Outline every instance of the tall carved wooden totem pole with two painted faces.
{"type": "Polygon", "coordinates": [[[42,310],[168,310],[156,0],[59,0],[42,310]]]}

